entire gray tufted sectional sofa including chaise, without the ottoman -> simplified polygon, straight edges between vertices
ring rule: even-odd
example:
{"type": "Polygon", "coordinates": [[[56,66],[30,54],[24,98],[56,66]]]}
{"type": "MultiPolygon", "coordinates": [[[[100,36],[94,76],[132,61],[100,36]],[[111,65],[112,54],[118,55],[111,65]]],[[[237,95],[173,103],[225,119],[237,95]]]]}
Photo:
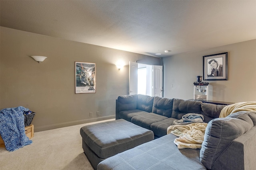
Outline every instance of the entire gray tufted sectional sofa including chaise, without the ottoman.
{"type": "Polygon", "coordinates": [[[256,168],[256,112],[239,111],[218,118],[223,105],[201,101],[119,96],[116,119],[153,131],[155,139],[107,158],[98,170],[254,170],[256,168]],[[208,123],[202,149],[178,149],[177,137],[167,133],[186,113],[204,115],[208,123]]]}

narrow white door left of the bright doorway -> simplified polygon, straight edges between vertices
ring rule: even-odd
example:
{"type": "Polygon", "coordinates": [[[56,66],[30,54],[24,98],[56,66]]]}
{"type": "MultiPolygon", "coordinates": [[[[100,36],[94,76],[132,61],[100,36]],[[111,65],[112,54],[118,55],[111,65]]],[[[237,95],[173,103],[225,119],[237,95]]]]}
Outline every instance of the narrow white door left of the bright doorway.
{"type": "Polygon", "coordinates": [[[129,94],[138,93],[138,63],[129,62],[129,94]]]}

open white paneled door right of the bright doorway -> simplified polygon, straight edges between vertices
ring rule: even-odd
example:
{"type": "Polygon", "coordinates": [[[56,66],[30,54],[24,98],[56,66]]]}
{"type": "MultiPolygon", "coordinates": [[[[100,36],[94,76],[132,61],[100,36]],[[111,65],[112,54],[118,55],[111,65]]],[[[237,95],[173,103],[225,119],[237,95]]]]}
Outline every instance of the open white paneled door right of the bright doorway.
{"type": "Polygon", "coordinates": [[[163,66],[153,66],[153,96],[163,96],[163,66]]]}

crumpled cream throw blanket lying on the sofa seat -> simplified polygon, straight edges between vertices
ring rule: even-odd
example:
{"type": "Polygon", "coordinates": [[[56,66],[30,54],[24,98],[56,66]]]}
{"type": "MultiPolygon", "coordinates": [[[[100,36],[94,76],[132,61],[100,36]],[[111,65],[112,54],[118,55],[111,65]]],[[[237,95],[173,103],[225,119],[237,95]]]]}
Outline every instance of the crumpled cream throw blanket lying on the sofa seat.
{"type": "Polygon", "coordinates": [[[172,133],[178,138],[174,143],[178,149],[200,149],[204,141],[204,133],[207,123],[190,123],[188,125],[171,125],[167,128],[167,134],[172,133]]]}

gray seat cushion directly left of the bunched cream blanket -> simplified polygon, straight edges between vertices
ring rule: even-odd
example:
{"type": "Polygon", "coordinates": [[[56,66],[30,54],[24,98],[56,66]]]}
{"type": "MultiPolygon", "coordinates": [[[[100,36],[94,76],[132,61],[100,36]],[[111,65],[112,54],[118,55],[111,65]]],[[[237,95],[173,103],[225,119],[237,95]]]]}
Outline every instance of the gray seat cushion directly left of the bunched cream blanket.
{"type": "Polygon", "coordinates": [[[172,125],[174,120],[177,120],[177,119],[170,117],[168,119],[164,119],[156,123],[152,123],[150,125],[150,130],[154,132],[155,136],[162,137],[167,134],[167,128],[170,125],[172,125]]]}

